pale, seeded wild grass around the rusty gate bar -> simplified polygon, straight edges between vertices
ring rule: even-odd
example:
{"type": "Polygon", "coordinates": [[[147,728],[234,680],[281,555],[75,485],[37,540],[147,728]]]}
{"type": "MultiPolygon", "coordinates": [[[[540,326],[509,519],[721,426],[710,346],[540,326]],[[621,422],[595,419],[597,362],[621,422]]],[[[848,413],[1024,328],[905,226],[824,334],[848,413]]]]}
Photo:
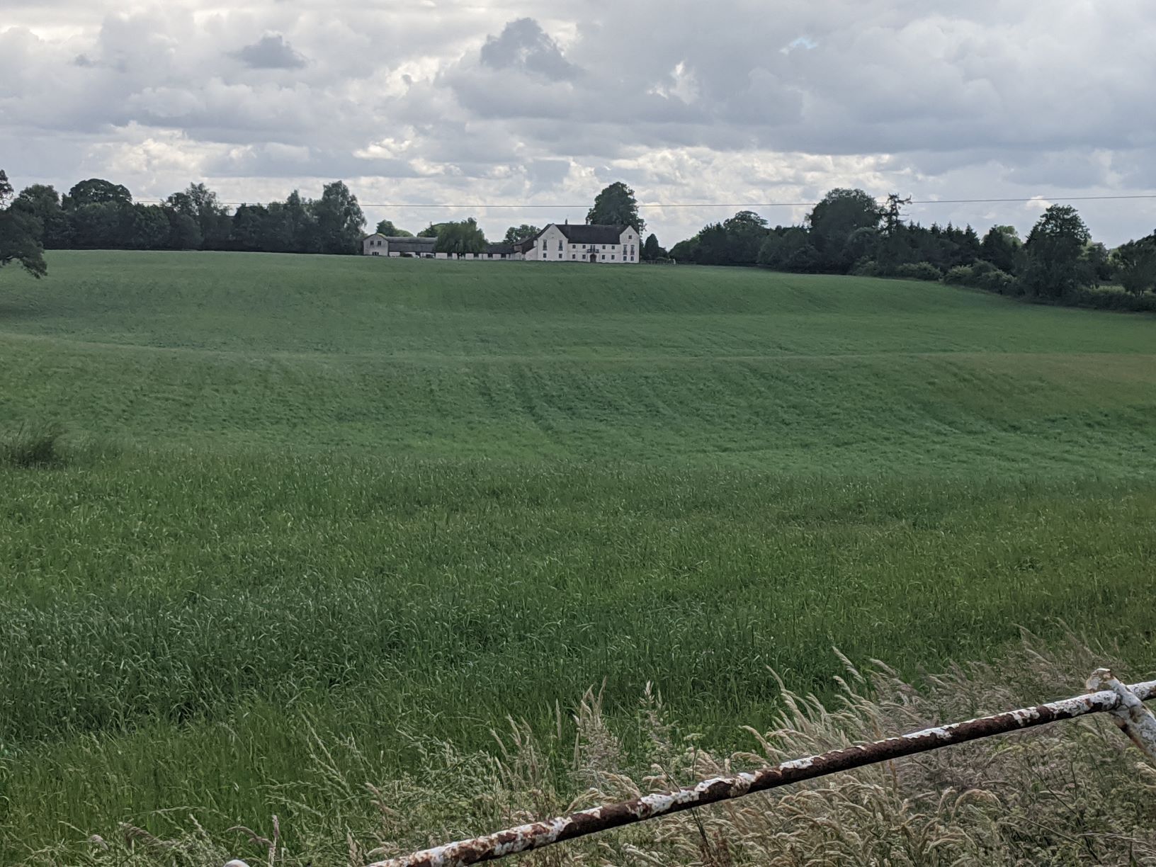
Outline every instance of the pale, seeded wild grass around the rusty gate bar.
{"type": "MultiPolygon", "coordinates": [[[[154,830],[110,824],[29,854],[28,867],[251,865],[361,867],[431,844],[588,806],[756,770],[785,758],[892,736],[973,713],[1081,691],[1107,658],[1072,642],[1040,653],[1030,639],[996,665],[955,667],[913,687],[874,664],[847,665],[831,702],[784,691],[766,729],[716,754],[647,687],[632,719],[608,719],[590,690],[556,725],[510,721],[465,751],[409,735],[416,768],[394,775],[358,739],[313,727],[291,786],[265,790],[253,827],[209,830],[209,812],[153,816],[154,830]],[[627,743],[639,744],[628,749],[627,743]],[[287,818],[291,816],[291,818],[287,818]]],[[[89,761],[103,765],[99,751],[89,761]]],[[[695,867],[1156,862],[1156,768],[1110,722],[1083,718],[1018,735],[839,773],[773,793],[606,832],[519,859],[533,865],[695,867]]]]}

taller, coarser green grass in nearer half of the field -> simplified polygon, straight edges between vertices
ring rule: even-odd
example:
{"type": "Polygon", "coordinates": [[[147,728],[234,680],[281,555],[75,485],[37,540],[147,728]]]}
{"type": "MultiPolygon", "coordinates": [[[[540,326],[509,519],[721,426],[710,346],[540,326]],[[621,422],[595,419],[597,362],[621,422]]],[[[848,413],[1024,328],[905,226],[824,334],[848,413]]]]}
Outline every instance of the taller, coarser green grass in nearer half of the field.
{"type": "Polygon", "coordinates": [[[652,682],[683,731],[734,748],[776,713],[768,667],[831,695],[835,643],[918,676],[1062,617],[1149,659],[1150,633],[1119,618],[1154,591],[1143,482],[944,496],[936,481],[160,452],[0,483],[13,845],[178,805],[214,832],[252,824],[269,787],[296,791],[312,728],[413,773],[407,733],[475,751],[507,714],[553,731],[603,679],[608,720],[652,682]]]}

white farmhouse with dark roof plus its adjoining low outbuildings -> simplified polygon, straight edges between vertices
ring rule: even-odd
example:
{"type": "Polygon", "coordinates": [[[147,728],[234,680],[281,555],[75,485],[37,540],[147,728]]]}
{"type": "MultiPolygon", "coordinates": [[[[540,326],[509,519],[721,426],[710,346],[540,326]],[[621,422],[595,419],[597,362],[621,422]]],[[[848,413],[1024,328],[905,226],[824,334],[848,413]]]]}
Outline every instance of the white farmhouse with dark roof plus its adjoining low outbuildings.
{"type": "Polygon", "coordinates": [[[483,253],[435,252],[435,238],[397,238],[368,235],[362,239],[362,253],[388,258],[525,260],[532,262],[599,262],[606,265],[637,264],[642,239],[632,225],[591,225],[550,223],[538,235],[517,244],[490,244],[483,253]]]}

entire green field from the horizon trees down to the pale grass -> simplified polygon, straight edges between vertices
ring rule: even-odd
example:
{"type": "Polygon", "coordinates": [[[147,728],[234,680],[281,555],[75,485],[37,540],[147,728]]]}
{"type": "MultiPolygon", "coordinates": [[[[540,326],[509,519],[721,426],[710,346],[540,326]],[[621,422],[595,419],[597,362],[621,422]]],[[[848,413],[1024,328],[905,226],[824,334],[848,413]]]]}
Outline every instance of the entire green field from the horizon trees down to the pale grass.
{"type": "Polygon", "coordinates": [[[0,273],[0,862],[333,808],[653,682],[684,733],[1059,621],[1156,664],[1156,318],[762,271],[54,253],[0,273]],[[563,713],[563,716],[565,716],[563,713]],[[340,757],[334,758],[341,762],[340,757]],[[312,799],[312,800],[311,800],[312,799]]]}

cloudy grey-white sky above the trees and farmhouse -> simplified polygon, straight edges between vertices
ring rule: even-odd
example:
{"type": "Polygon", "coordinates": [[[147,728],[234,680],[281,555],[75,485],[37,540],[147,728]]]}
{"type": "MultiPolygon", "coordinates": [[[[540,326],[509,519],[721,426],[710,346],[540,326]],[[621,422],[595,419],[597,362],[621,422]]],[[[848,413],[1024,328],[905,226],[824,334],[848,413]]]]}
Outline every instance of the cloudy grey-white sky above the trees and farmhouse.
{"type": "MultiPolygon", "coordinates": [[[[341,178],[372,222],[490,236],[617,179],[642,203],[1154,193],[1154,46],[1153,0],[0,0],[0,168],[231,202],[341,178]]],[[[1154,200],[1076,206],[1110,244],[1156,228],[1154,200]]],[[[1042,207],[910,213],[1025,231],[1042,207]]],[[[734,210],[643,216],[670,245],[734,210]]]]}

